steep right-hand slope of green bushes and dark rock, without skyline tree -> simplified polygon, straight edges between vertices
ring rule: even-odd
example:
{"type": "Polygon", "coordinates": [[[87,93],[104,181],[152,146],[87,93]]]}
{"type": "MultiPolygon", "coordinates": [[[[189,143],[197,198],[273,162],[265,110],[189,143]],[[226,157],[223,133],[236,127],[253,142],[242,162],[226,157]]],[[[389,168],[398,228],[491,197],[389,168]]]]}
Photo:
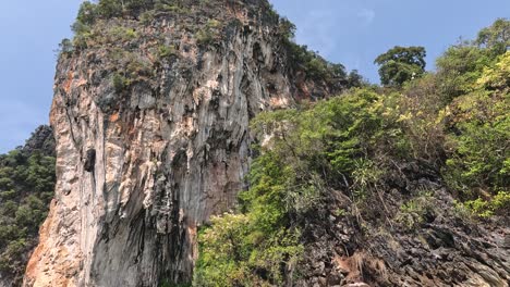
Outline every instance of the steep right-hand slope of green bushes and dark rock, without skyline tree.
{"type": "Polygon", "coordinates": [[[509,286],[510,42],[499,47],[454,46],[404,86],[257,115],[250,187],[201,232],[194,284],[509,286]]]}

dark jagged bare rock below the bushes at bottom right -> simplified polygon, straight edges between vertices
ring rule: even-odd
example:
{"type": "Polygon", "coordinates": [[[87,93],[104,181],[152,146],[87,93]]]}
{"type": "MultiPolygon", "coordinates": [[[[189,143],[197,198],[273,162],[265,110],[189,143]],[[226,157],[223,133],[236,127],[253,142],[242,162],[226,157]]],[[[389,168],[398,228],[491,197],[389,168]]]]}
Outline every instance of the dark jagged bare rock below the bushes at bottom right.
{"type": "Polygon", "coordinates": [[[306,217],[303,278],[296,285],[509,286],[508,217],[470,222],[456,214],[437,175],[424,166],[401,169],[386,178],[377,201],[360,207],[357,217],[345,215],[356,212],[342,192],[306,217]],[[402,211],[409,199],[420,200],[418,208],[402,211]]]}

